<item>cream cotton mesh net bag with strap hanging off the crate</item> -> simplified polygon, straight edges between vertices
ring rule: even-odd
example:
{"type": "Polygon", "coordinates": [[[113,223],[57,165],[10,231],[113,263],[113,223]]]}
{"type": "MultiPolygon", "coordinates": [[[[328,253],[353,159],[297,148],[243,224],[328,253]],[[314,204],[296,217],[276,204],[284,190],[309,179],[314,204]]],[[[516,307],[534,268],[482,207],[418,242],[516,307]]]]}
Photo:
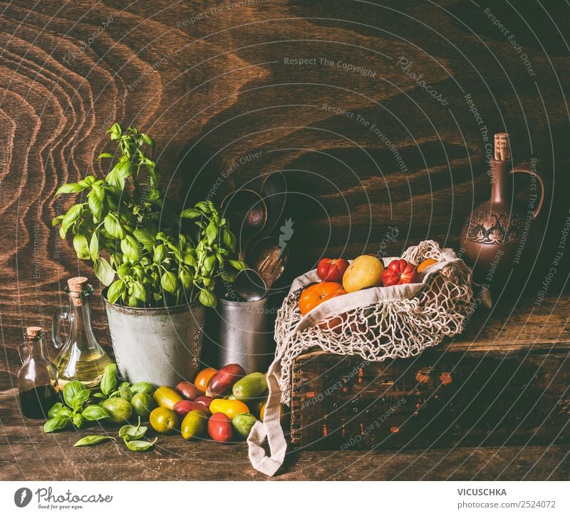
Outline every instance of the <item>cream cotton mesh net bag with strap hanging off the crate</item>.
{"type": "MultiPolygon", "coordinates": [[[[277,349],[269,367],[269,398],[264,422],[252,428],[249,458],[254,468],[274,475],[283,463],[286,441],[279,424],[280,401],[291,399],[291,365],[309,349],[339,355],[358,355],[366,361],[410,358],[440,344],[445,336],[460,334],[474,308],[471,270],[451,249],[426,240],[402,255],[413,264],[432,258],[436,264],[422,274],[421,282],[374,287],[338,296],[301,316],[299,296],[317,282],[316,271],[295,279],[275,324],[277,349]],[[269,442],[271,455],[261,443],[269,442]]],[[[385,258],[385,265],[394,258],[385,258]]]]}

